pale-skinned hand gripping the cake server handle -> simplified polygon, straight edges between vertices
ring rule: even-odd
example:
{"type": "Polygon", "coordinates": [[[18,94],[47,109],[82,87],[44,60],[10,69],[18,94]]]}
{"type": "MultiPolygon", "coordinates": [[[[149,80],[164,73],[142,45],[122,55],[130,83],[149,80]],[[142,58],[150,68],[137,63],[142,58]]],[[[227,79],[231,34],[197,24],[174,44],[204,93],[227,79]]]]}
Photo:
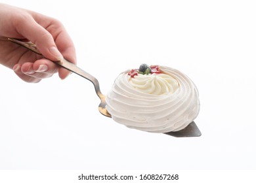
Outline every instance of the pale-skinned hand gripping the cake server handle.
{"type": "Polygon", "coordinates": [[[0,63],[13,69],[26,82],[39,82],[58,73],[61,79],[70,71],[53,61],[62,57],[76,63],[75,48],[64,26],[56,19],[0,3],[0,63]],[[7,38],[31,41],[43,56],[37,55],[7,38]],[[48,58],[48,59],[46,59],[48,58]]]}

